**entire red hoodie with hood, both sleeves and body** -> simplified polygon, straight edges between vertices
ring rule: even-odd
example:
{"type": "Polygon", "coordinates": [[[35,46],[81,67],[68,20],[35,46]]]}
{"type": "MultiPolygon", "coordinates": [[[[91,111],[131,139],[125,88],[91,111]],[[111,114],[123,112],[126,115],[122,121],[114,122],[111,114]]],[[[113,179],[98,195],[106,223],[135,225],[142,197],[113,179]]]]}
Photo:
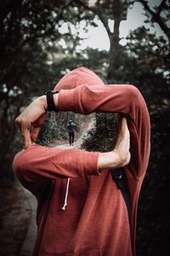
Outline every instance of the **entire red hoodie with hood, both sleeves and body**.
{"type": "Polygon", "coordinates": [[[33,255],[135,255],[139,190],[150,154],[150,118],[144,99],[133,85],[104,85],[84,67],[65,75],[55,90],[59,90],[59,111],[127,116],[131,161],[124,172],[132,205],[133,246],[127,207],[110,170],[97,170],[99,153],[37,145],[14,158],[14,172],[20,183],[37,197],[33,255]]]}

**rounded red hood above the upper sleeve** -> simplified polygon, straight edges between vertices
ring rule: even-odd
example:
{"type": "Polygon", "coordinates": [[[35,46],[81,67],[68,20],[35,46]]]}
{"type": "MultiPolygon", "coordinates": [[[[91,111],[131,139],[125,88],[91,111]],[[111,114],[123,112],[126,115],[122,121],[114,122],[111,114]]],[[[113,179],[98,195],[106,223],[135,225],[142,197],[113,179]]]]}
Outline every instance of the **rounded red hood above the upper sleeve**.
{"type": "Polygon", "coordinates": [[[55,85],[54,90],[69,90],[74,89],[79,85],[88,84],[104,84],[101,79],[87,67],[77,67],[59,80],[59,83],[55,85]]]}

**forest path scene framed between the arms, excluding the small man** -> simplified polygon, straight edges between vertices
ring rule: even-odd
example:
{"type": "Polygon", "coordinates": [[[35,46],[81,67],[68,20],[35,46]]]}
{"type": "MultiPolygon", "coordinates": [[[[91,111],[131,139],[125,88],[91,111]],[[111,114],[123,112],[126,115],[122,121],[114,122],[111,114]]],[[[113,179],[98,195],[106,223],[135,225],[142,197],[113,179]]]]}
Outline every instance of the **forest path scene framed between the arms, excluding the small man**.
{"type": "Polygon", "coordinates": [[[92,113],[83,115],[72,112],[48,112],[42,125],[37,144],[46,147],[66,145],[69,148],[67,125],[71,120],[76,125],[75,147],[88,151],[112,150],[118,132],[118,114],[92,113]]]}

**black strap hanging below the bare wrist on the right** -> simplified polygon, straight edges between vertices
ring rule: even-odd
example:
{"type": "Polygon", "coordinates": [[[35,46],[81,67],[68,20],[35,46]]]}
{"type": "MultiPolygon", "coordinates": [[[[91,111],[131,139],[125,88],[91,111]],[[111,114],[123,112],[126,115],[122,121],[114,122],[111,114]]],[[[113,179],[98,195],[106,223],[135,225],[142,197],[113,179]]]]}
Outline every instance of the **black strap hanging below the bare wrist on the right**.
{"type": "Polygon", "coordinates": [[[128,213],[128,222],[129,222],[131,238],[132,238],[132,208],[131,208],[130,196],[129,196],[128,187],[127,187],[126,174],[123,171],[123,169],[120,168],[116,170],[111,170],[111,176],[113,180],[116,182],[117,188],[121,189],[122,197],[126,203],[127,213],[128,213]]]}

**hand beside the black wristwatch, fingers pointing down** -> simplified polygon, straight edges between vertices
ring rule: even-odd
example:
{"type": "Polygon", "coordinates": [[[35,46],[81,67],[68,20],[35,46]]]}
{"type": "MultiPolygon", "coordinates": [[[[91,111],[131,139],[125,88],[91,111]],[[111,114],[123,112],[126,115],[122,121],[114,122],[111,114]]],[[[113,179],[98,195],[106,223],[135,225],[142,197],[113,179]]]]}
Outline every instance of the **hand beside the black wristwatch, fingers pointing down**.
{"type": "Polygon", "coordinates": [[[40,96],[34,102],[31,102],[31,104],[15,119],[16,124],[19,125],[25,149],[31,145],[31,142],[36,141],[47,108],[46,96],[40,96]]]}

